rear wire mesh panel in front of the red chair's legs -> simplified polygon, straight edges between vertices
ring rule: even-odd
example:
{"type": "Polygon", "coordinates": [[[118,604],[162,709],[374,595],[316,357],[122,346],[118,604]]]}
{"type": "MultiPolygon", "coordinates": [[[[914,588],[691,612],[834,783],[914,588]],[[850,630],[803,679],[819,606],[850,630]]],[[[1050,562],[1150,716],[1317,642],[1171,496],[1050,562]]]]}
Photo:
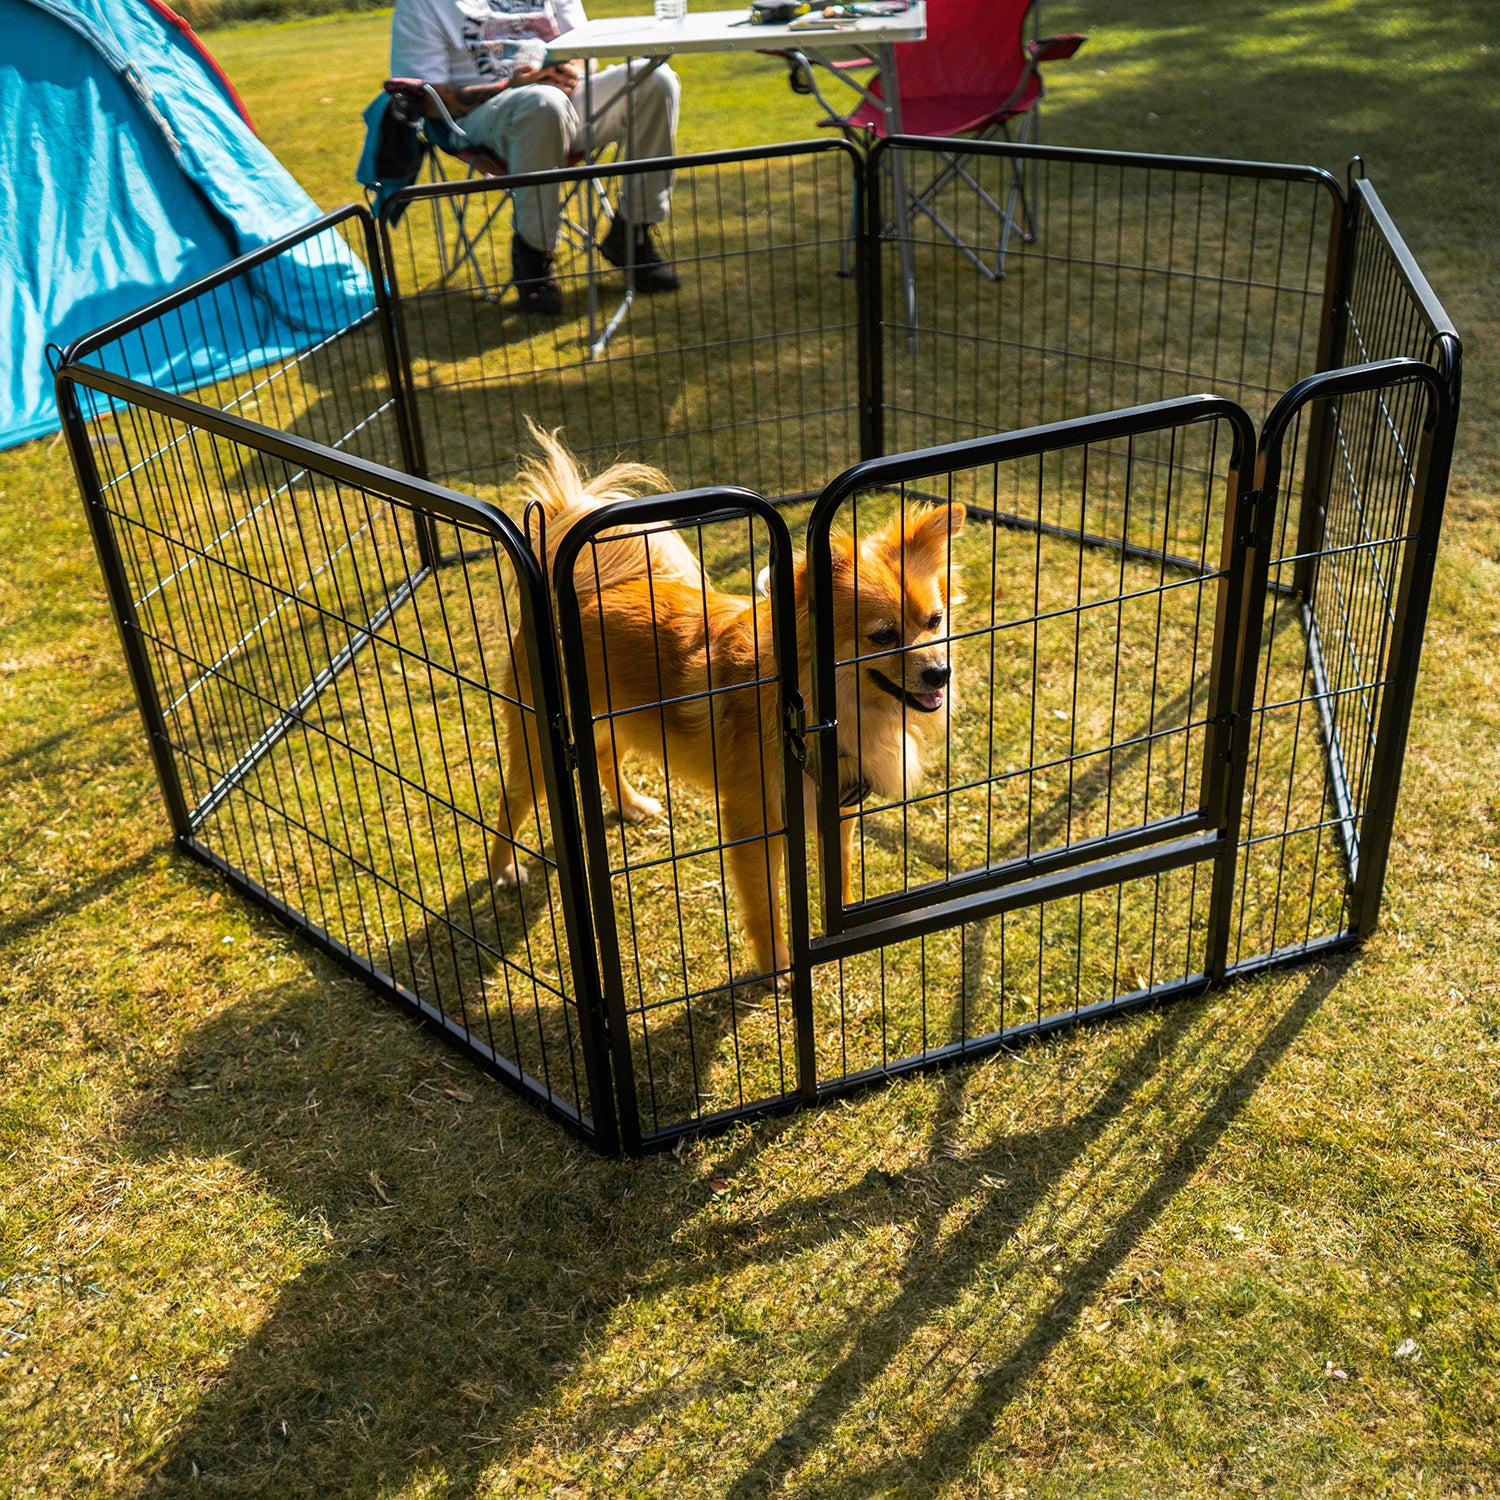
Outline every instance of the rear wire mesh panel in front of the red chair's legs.
{"type": "Polygon", "coordinates": [[[1318,368],[1316,168],[910,140],[873,177],[882,452],[1197,392],[1258,422],[1318,368]]]}

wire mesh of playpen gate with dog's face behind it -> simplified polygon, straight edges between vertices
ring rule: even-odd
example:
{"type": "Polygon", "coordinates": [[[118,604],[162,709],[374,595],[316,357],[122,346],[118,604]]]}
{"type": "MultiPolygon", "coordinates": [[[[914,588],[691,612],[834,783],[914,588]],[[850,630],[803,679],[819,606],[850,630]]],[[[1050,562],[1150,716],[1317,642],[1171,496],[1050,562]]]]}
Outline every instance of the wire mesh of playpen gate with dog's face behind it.
{"type": "Polygon", "coordinates": [[[1190,398],[831,486],[810,552],[832,930],[1218,825],[1251,448],[1244,412],[1190,398]]]}

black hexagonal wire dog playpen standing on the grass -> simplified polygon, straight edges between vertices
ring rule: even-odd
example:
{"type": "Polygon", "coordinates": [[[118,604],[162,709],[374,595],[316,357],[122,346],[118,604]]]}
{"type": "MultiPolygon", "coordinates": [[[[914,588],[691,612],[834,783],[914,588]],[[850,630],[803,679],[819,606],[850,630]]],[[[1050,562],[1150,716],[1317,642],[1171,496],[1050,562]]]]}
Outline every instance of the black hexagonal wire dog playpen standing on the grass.
{"type": "MultiPolygon", "coordinates": [[[[588,225],[562,318],[522,320],[512,184],[474,180],[378,224],[328,214],[63,358],[178,844],[603,1149],[1329,954],[1377,920],[1450,322],[1362,176],[1004,144],[945,172],[954,150],[678,159],[682,286],[633,298],[603,346],[618,273],[588,225]],[[945,231],[892,207],[892,182],[930,180],[945,231]],[[1030,232],[996,274],[970,252],[1018,184],[1030,232]],[[216,360],[256,345],[246,322],[300,332],[216,360]],[[153,384],[164,348],[198,357],[153,384]],[[576,528],[549,579],[516,502],[528,414],[585,464],[682,489],[576,528]],[[836,684],[874,648],[836,638],[830,538],[933,501],[968,516],[956,698],[921,778],[861,800],[836,684]],[[609,813],[598,754],[642,710],[591,698],[582,668],[606,525],[675,528],[714,588],[768,591],[752,678],[710,658],[687,694],[714,777],[766,789],[760,826],[724,826],[670,764],[632,770],[664,816],[609,813]],[[543,801],[516,828],[530,878],[495,888],[506,693],[543,801]],[[752,744],[716,740],[734,694],[752,744]],[[746,858],[788,938],[776,987],[734,898],[746,858]]],[[[592,213],[633,170],[550,176],[592,213]]]]}

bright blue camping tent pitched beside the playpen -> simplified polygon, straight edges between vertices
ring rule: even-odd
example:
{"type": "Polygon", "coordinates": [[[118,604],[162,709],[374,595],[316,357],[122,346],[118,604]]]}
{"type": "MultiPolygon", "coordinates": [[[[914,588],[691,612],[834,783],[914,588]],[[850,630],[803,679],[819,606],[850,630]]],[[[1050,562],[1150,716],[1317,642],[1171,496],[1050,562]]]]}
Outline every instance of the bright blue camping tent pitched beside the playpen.
{"type": "MultiPolygon", "coordinates": [[[[310,222],[230,82],[158,0],[0,0],[0,447],[57,428],[48,344],[72,339],[310,222]]],[[[190,390],[360,316],[369,278],[327,236],[236,282],[196,348],[150,350],[190,390]],[[231,338],[234,346],[213,346],[231,338]]],[[[224,296],[224,294],[220,294],[224,296]]],[[[136,358],[140,345],[136,345],[136,358]]],[[[105,363],[110,363],[108,356],[105,363]]],[[[136,363],[134,372],[141,376],[136,363]]]]}

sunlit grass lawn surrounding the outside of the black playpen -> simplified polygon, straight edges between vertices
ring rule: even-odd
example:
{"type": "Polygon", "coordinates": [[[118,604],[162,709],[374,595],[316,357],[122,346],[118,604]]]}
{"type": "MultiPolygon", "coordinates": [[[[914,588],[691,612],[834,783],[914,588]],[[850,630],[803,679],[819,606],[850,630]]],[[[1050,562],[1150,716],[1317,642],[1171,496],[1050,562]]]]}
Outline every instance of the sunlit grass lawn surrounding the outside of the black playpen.
{"type": "MultiPolygon", "coordinates": [[[[212,36],[326,207],[387,24],[212,36]]],[[[1090,34],[1047,140],[1359,152],[1464,334],[1382,932],[598,1160],[171,850],[66,453],[10,450],[0,1490],[1500,1490],[1500,15],[1050,0],[1047,24],[1090,34]]],[[[687,148],[810,134],[778,64],[680,70],[687,148]]]]}

